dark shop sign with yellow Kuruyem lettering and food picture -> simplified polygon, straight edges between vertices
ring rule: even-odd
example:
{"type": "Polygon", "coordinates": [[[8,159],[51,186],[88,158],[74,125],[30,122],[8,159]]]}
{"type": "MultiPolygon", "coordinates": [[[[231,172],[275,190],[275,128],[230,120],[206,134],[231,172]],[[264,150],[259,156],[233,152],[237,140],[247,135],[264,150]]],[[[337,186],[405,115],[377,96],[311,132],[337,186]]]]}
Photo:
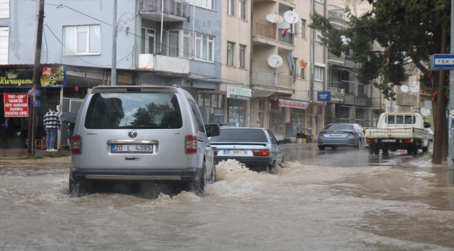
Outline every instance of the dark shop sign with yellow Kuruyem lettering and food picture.
{"type": "MultiPolygon", "coordinates": [[[[33,66],[0,67],[0,88],[33,86],[33,66]]],[[[40,70],[41,87],[66,86],[66,67],[57,65],[42,65],[40,70]]]]}

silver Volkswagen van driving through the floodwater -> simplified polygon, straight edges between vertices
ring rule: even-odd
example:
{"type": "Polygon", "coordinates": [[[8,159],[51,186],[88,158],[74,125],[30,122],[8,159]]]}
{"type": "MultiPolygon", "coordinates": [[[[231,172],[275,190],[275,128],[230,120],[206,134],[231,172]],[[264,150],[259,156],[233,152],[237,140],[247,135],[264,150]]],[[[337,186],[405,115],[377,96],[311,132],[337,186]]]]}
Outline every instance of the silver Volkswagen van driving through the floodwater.
{"type": "Polygon", "coordinates": [[[94,183],[186,183],[198,195],[216,181],[196,101],[179,86],[96,86],[85,97],[71,144],[69,190],[87,195],[94,183]]]}

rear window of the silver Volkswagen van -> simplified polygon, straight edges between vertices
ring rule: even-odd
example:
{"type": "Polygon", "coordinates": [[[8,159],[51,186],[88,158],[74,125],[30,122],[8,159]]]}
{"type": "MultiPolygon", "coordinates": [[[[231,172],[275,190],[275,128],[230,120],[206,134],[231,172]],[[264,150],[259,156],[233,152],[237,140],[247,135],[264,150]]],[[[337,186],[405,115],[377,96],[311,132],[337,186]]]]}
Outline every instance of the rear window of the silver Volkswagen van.
{"type": "Polygon", "coordinates": [[[91,97],[85,128],[182,128],[175,93],[96,93],[91,97]]]}

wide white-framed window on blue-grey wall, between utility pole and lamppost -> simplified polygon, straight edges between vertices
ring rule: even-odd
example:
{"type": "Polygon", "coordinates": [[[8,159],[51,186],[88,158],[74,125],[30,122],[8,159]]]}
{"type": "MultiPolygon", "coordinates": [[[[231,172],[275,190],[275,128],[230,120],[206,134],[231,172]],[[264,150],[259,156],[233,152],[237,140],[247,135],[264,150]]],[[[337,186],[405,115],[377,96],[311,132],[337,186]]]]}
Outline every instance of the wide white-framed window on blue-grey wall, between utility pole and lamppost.
{"type": "Polygon", "coordinates": [[[65,55],[99,54],[100,26],[64,26],[63,43],[65,55]]]}

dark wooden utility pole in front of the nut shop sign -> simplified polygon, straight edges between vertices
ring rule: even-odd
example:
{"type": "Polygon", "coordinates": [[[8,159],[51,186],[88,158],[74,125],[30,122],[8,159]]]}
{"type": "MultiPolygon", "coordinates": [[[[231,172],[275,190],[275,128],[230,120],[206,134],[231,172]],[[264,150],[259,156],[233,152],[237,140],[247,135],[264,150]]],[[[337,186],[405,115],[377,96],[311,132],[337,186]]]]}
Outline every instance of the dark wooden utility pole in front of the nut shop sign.
{"type": "Polygon", "coordinates": [[[31,112],[29,112],[29,144],[27,145],[27,155],[31,157],[33,155],[33,145],[35,142],[35,128],[36,128],[36,109],[35,109],[35,98],[36,98],[36,86],[40,79],[39,72],[41,68],[41,45],[43,44],[43,22],[44,22],[44,0],[39,0],[38,10],[38,30],[36,32],[36,49],[35,49],[35,61],[33,66],[33,79],[31,86],[31,95],[33,96],[33,103],[31,105],[31,112]]]}

